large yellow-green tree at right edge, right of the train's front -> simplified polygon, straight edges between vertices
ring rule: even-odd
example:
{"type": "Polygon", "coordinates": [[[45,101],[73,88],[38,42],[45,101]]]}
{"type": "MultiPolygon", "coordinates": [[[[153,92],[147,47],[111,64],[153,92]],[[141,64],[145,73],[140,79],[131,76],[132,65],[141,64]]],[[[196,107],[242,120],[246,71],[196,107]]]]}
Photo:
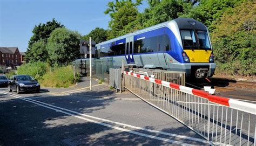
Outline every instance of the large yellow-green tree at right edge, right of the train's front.
{"type": "Polygon", "coordinates": [[[228,9],[211,33],[215,60],[232,74],[256,74],[256,3],[244,2],[228,9]]]}

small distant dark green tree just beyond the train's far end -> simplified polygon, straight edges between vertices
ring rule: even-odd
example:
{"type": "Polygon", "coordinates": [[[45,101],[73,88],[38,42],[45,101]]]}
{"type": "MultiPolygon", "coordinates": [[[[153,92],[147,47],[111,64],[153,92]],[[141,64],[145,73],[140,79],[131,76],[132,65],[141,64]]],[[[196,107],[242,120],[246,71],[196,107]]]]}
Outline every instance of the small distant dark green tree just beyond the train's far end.
{"type": "Polygon", "coordinates": [[[96,27],[87,35],[83,36],[82,39],[89,40],[89,37],[92,37],[92,40],[96,42],[96,44],[107,40],[107,30],[96,27]]]}

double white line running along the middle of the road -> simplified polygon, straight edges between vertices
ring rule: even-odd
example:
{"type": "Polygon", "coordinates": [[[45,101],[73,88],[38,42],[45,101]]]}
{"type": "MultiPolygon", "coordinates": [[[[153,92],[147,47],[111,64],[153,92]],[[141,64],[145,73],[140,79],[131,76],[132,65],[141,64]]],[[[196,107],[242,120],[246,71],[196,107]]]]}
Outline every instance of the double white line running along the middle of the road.
{"type": "Polygon", "coordinates": [[[29,99],[29,98],[24,98],[23,96],[15,95],[15,94],[4,92],[4,91],[0,91],[0,93],[4,93],[4,94],[10,95],[14,98],[21,99],[21,100],[31,102],[31,103],[34,103],[36,105],[45,107],[45,108],[55,110],[56,112],[61,112],[61,113],[64,113],[64,114],[75,116],[75,117],[77,117],[79,119],[83,119],[85,121],[101,124],[101,125],[106,126],[106,127],[110,127],[110,128],[121,130],[121,131],[126,131],[128,133],[132,133],[132,134],[136,134],[136,135],[140,135],[140,136],[144,136],[144,137],[154,138],[156,140],[161,140],[161,141],[166,141],[166,142],[171,142],[171,143],[176,143],[176,144],[187,144],[187,143],[182,143],[182,142],[178,142],[178,141],[173,141],[173,140],[170,140],[170,139],[167,139],[167,138],[152,136],[152,135],[148,135],[148,134],[138,133],[138,132],[132,131],[132,130],[127,130],[127,129],[115,127],[115,126],[112,126],[110,124],[106,124],[106,123],[103,123],[103,122],[98,122],[98,121],[95,121],[95,120],[86,119],[85,117],[82,117],[82,116],[90,117],[91,119],[101,120],[101,121],[105,121],[105,122],[109,122],[109,123],[113,123],[113,124],[119,124],[119,125],[122,125],[122,126],[133,128],[133,129],[144,130],[144,131],[148,131],[148,132],[151,132],[151,133],[157,133],[157,134],[162,134],[162,135],[167,135],[167,136],[184,138],[184,139],[187,139],[187,140],[198,141],[198,142],[203,142],[203,143],[209,143],[208,141],[202,140],[202,139],[199,139],[199,138],[188,137],[188,136],[184,136],[184,135],[171,134],[171,133],[166,133],[166,132],[163,132],[163,131],[151,130],[151,129],[141,128],[141,127],[137,127],[137,126],[131,126],[131,125],[125,124],[125,123],[120,123],[120,122],[114,122],[114,121],[110,121],[110,120],[106,120],[106,119],[101,119],[99,117],[78,113],[78,112],[75,112],[73,110],[69,110],[69,109],[49,105],[48,103],[44,103],[44,102],[37,101],[37,100],[32,100],[32,99],[29,99]],[[63,110],[65,110],[66,112],[64,112],[63,110]],[[70,112],[70,113],[67,113],[67,112],[70,112]],[[73,114],[71,114],[71,113],[73,113],[73,114]],[[74,114],[76,114],[76,115],[74,115],[74,114]],[[81,115],[81,116],[78,116],[78,115],[81,115]]]}

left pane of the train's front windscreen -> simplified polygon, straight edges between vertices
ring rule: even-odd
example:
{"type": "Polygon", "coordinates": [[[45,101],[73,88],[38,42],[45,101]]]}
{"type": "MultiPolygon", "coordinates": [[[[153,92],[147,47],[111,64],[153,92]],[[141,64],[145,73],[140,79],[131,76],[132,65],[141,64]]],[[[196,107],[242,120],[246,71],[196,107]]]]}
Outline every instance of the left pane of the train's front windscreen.
{"type": "Polygon", "coordinates": [[[184,49],[198,48],[193,30],[180,30],[184,49]]]}

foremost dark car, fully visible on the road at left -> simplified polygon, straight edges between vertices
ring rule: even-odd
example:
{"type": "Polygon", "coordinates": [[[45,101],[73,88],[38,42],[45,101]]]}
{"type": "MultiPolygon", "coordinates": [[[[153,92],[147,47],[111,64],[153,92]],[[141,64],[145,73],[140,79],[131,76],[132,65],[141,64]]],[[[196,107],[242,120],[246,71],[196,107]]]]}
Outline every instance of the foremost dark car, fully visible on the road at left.
{"type": "Polygon", "coordinates": [[[40,84],[30,75],[14,75],[9,80],[8,90],[15,90],[18,94],[26,91],[40,92],[40,84]]]}

